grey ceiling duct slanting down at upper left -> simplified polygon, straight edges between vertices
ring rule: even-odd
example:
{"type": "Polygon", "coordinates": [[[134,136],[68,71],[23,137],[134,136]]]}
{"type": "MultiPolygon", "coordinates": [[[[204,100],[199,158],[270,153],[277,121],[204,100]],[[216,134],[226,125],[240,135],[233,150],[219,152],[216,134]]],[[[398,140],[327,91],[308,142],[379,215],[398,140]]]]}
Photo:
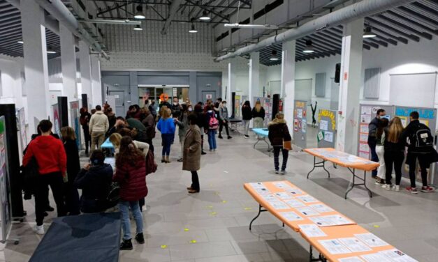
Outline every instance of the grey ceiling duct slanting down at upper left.
{"type": "Polygon", "coordinates": [[[73,16],[73,14],[66,8],[61,0],[35,0],[42,8],[48,11],[55,19],[57,19],[61,24],[67,27],[75,36],[78,36],[85,41],[92,49],[99,52],[105,59],[110,59],[108,54],[106,54],[101,45],[99,45],[96,40],[94,40],[85,29],[80,26],[78,20],[73,16]]]}

